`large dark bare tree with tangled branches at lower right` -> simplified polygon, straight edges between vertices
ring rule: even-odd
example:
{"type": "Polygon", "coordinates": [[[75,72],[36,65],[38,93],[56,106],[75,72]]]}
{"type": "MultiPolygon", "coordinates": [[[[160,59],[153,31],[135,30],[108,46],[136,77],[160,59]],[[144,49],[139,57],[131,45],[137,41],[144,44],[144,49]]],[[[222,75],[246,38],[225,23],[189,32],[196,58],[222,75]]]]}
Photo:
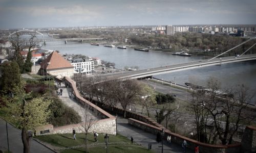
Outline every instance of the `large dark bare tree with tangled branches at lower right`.
{"type": "Polygon", "coordinates": [[[220,83],[215,79],[208,81],[208,87],[207,92],[198,91],[190,105],[190,110],[195,113],[198,140],[208,139],[211,143],[220,140],[222,144],[231,144],[242,126],[241,121],[249,123],[254,119],[245,113],[252,96],[243,85],[238,85],[236,90],[230,88],[221,92],[220,83]],[[206,130],[208,124],[213,127],[211,131],[206,130]]]}

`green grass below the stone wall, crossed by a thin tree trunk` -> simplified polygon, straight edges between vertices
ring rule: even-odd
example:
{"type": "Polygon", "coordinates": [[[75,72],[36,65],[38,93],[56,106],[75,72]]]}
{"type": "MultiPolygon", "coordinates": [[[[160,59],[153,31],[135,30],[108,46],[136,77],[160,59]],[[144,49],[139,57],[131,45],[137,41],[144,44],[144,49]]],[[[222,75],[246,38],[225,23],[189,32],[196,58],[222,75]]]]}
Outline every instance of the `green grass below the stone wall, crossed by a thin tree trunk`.
{"type": "MultiPolygon", "coordinates": [[[[98,145],[89,146],[90,152],[105,152],[105,134],[99,134],[98,136],[98,145]]],[[[43,135],[36,136],[36,139],[40,141],[47,142],[53,146],[57,147],[72,147],[72,146],[80,146],[84,145],[85,135],[82,133],[76,134],[76,140],[73,140],[72,134],[54,134],[54,135],[43,135]]],[[[94,143],[93,134],[88,134],[88,142],[89,144],[94,143]]],[[[131,140],[127,139],[121,135],[109,135],[109,143],[126,143],[126,144],[109,144],[108,152],[153,152],[151,150],[147,150],[146,148],[131,144],[131,140]]],[[[60,152],[84,152],[84,147],[74,148],[74,149],[66,149],[60,150],[60,152]]]]}

